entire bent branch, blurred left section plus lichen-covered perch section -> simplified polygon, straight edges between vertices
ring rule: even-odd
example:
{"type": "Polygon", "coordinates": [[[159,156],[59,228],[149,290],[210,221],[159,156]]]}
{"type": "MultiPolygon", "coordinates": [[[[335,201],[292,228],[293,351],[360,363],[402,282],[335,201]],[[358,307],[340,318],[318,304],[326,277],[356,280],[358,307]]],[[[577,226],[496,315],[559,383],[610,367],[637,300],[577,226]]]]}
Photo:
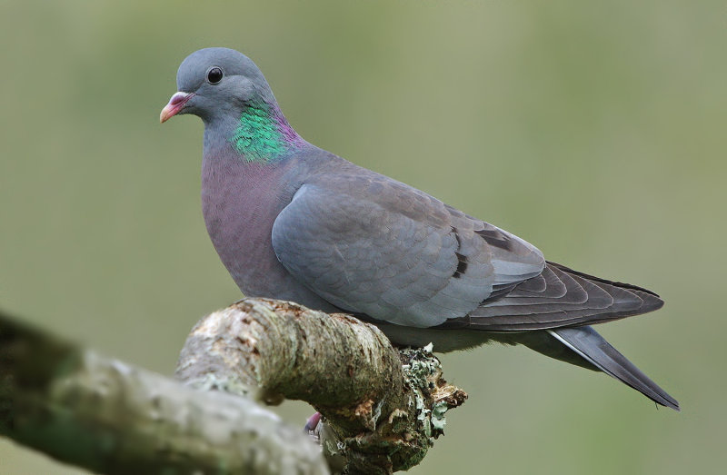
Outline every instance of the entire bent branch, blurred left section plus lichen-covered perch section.
{"type": "Polygon", "coordinates": [[[406,470],[466,399],[431,349],[396,351],[373,325],[264,299],[198,322],[177,377],[186,387],[0,314],[0,435],[111,475],[328,471],[251,397],[313,404],[334,470],[406,470]]]}

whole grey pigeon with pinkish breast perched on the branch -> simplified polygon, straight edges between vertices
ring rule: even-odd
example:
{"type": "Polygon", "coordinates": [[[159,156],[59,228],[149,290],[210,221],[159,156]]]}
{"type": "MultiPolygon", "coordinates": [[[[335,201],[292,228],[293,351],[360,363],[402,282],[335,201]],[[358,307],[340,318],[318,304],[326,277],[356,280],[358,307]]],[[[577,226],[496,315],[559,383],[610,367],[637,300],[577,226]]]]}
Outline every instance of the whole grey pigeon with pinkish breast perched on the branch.
{"type": "Polygon", "coordinates": [[[679,402],[593,324],[662,307],[656,293],[545,260],[533,244],[308,143],[234,49],[189,54],[160,114],[204,123],[202,211],[246,296],[373,322],[398,346],[522,344],[679,402]]]}

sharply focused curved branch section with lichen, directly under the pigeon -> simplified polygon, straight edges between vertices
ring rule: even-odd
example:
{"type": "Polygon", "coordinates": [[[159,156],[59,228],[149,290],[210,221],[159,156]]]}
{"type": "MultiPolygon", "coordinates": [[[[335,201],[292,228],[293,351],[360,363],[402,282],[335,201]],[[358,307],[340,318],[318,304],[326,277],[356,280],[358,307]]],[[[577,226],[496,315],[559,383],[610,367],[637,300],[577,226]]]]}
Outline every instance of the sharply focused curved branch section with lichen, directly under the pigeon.
{"type": "Polygon", "coordinates": [[[176,375],[267,402],[307,401],[324,416],[324,451],[348,473],[419,463],[466,394],[431,348],[395,350],[375,326],[291,302],[244,299],[197,323],[176,375]]]}

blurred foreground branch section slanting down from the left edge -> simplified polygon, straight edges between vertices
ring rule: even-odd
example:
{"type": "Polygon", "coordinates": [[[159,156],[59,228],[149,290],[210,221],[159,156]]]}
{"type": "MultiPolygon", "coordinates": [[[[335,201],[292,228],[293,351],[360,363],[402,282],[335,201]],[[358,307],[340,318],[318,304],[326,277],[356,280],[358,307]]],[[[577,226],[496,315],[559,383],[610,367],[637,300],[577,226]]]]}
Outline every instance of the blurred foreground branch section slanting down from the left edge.
{"type": "Polygon", "coordinates": [[[320,450],[253,401],[195,391],[0,314],[0,435],[128,473],[327,473],[320,450]]]}

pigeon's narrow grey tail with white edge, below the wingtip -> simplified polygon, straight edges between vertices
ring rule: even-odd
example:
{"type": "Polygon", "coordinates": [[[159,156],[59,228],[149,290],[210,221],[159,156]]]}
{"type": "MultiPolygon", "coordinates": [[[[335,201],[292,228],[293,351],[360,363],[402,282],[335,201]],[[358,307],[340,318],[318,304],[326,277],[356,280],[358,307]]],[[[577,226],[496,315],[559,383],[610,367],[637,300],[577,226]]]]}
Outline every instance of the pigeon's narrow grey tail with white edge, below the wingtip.
{"type": "MultiPolygon", "coordinates": [[[[679,402],[636,368],[592,327],[556,328],[547,332],[597,369],[628,384],[652,401],[679,411],[679,402]]],[[[532,348],[540,351],[539,348],[532,348]]]]}

